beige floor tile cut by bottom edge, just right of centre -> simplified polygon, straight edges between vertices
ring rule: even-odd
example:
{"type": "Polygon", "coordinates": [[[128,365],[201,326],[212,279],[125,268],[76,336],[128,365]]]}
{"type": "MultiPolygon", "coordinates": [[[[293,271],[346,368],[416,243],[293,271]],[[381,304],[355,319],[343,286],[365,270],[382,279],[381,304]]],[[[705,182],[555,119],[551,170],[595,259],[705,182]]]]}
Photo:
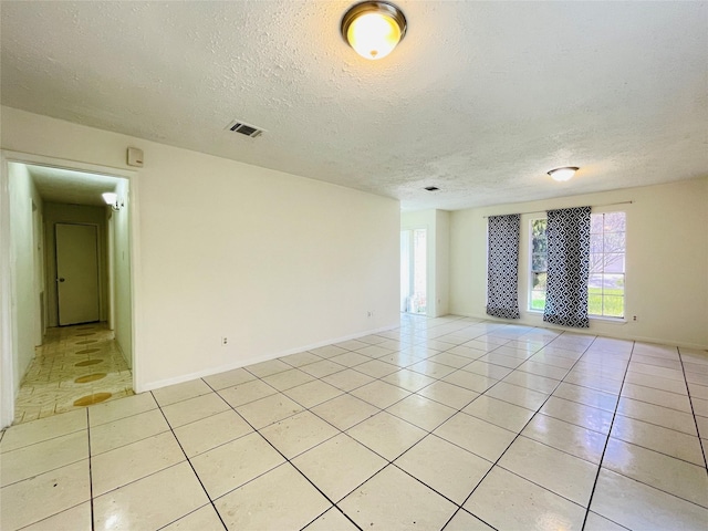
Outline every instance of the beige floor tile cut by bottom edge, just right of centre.
{"type": "Polygon", "coordinates": [[[398,468],[388,466],[339,507],[362,529],[441,529],[457,509],[398,468]]]}

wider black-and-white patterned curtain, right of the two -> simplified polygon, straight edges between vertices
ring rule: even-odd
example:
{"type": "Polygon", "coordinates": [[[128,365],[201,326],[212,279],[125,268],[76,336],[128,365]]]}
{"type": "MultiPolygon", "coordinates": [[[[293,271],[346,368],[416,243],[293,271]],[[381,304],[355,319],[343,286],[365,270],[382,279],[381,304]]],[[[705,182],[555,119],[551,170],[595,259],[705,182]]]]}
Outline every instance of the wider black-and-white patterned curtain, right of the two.
{"type": "Polygon", "coordinates": [[[543,321],[590,327],[590,207],[548,211],[548,280],[543,321]]]}

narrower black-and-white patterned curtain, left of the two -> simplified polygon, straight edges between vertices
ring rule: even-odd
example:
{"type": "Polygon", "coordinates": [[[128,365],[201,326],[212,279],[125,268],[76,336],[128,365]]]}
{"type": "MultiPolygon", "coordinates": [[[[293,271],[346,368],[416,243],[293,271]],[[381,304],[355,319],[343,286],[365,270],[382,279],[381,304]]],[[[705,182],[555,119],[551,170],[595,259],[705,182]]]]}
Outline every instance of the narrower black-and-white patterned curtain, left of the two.
{"type": "Polygon", "coordinates": [[[521,216],[490,216],[487,252],[487,313],[519,319],[517,279],[521,216]]]}

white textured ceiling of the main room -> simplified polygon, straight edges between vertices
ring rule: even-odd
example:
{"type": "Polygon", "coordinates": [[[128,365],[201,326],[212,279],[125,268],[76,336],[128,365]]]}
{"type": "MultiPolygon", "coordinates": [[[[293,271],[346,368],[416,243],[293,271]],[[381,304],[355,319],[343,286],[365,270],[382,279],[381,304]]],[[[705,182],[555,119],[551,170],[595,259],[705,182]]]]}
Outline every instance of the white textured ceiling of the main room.
{"type": "Polygon", "coordinates": [[[2,1],[1,101],[407,210],[708,175],[706,2],[397,4],[406,38],[366,61],[350,2],[2,1]]]}

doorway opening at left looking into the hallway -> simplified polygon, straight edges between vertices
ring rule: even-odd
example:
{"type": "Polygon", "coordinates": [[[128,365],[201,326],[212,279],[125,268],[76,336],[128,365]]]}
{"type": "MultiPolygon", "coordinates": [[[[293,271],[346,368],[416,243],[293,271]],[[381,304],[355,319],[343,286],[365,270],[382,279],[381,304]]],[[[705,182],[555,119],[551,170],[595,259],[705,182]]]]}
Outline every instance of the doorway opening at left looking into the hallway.
{"type": "Polygon", "coordinates": [[[3,425],[119,398],[134,387],[131,178],[28,158],[3,160],[3,250],[12,256],[7,270],[17,301],[11,344],[2,345],[0,374],[10,388],[3,425]],[[119,200],[106,205],[104,192],[119,200]]]}

